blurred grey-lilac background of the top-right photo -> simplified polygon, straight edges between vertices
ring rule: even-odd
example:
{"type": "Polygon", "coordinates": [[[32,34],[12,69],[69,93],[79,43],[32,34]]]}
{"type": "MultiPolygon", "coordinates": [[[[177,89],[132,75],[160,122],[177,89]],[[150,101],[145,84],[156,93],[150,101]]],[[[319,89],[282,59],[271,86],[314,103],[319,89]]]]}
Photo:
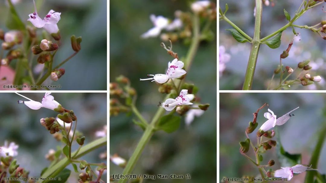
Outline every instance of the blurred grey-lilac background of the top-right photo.
{"type": "MultiPolygon", "coordinates": [[[[254,1],[236,1],[236,0],[220,0],[220,7],[225,10],[225,4],[229,5],[229,10],[226,13],[228,19],[235,23],[249,36],[254,34],[255,18],[253,16],[255,2],[254,1]]],[[[265,37],[279,28],[283,27],[288,21],[285,18],[283,9],[286,9],[293,18],[294,13],[298,10],[302,1],[274,1],[275,6],[266,7],[263,5],[261,19],[261,38],[265,37]]],[[[324,3],[326,6],[326,3],[324,3]]],[[[313,26],[320,21],[326,20],[326,14],[321,10],[322,6],[309,9],[304,15],[294,22],[296,25],[313,26]]],[[[226,52],[231,55],[231,59],[226,63],[226,70],[219,77],[221,90],[241,90],[244,82],[244,75],[248,63],[251,45],[250,43],[239,43],[225,29],[231,29],[231,25],[226,21],[219,21],[219,45],[225,46],[226,52]]],[[[320,26],[319,26],[320,27],[320,26]]],[[[293,69],[303,60],[310,59],[309,70],[312,76],[320,75],[323,79],[317,84],[302,86],[292,85],[291,89],[300,90],[324,90],[326,88],[326,43],[317,33],[307,29],[295,28],[297,33],[301,34],[301,41],[295,42],[289,52],[289,57],[282,59],[284,66],[290,66],[293,69]]],[[[257,59],[256,72],[253,90],[265,90],[270,82],[274,69],[280,64],[279,55],[288,48],[290,41],[293,38],[292,28],[289,27],[282,33],[281,46],[276,49],[271,49],[267,45],[261,45],[259,56],[257,59]]],[[[322,34],[325,35],[325,34],[322,34]]],[[[300,72],[300,71],[299,71],[300,72]]],[[[299,72],[292,74],[289,79],[294,79],[299,72]]],[[[305,73],[305,72],[304,72],[305,73]]],[[[287,73],[286,73],[287,74],[287,73]]],[[[221,74],[220,74],[221,75],[221,74]]],[[[276,75],[274,82],[279,81],[280,75],[276,75]]],[[[274,88],[274,87],[273,87],[274,88]]]]}

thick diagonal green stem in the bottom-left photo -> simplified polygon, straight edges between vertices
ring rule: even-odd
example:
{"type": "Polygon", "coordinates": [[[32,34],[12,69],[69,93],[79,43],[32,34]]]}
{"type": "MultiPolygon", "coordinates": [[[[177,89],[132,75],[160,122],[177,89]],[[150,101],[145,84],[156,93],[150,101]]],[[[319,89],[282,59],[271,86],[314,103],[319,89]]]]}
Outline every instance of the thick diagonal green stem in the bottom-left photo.
{"type": "MultiPolygon", "coordinates": [[[[107,137],[102,137],[99,139],[96,139],[94,141],[92,141],[89,144],[84,145],[81,149],[80,149],[80,153],[75,157],[75,158],[80,158],[83,155],[101,147],[107,144],[107,137]]],[[[76,153],[73,152],[73,153],[76,153]]],[[[67,157],[63,158],[62,160],[60,160],[58,163],[56,163],[55,165],[52,166],[52,168],[48,168],[42,175],[42,177],[55,177],[56,175],[58,175],[67,165],[69,165],[71,163],[71,161],[68,160],[67,157]]],[[[42,183],[46,183],[49,182],[50,180],[44,180],[42,181],[42,183]]]]}

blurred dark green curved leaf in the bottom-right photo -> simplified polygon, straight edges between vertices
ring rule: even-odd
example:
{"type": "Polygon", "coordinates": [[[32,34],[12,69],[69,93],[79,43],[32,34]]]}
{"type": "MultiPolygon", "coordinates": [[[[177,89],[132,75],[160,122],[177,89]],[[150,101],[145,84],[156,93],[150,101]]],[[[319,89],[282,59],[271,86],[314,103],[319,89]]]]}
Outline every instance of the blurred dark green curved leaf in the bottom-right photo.
{"type": "Polygon", "coordinates": [[[290,154],[286,152],[281,144],[279,133],[277,133],[276,155],[281,167],[294,166],[301,164],[301,154],[290,154]]]}

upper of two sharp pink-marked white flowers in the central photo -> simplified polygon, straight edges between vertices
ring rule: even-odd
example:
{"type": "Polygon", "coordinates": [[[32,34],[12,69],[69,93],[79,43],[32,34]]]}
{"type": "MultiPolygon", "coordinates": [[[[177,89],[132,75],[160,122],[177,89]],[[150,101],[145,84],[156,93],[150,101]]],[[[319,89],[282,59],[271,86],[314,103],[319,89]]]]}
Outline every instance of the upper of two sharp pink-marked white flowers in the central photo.
{"type": "MultiPolygon", "coordinates": [[[[152,80],[156,81],[157,83],[163,84],[167,82],[170,78],[179,78],[184,75],[186,72],[182,68],[184,67],[184,63],[178,59],[172,60],[172,62],[168,63],[168,71],[166,74],[148,74],[148,76],[153,76],[153,78],[147,79],[140,79],[141,81],[144,80],[152,80]]],[[[152,82],[153,82],[152,81],[152,82]]]]}

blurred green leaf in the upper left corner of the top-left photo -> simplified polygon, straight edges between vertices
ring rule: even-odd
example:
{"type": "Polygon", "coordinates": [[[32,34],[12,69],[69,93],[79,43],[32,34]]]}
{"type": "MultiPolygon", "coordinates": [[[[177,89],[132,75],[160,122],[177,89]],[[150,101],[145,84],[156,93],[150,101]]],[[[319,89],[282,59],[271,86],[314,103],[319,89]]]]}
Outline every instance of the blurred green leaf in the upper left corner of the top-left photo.
{"type": "Polygon", "coordinates": [[[25,24],[19,18],[15,7],[12,5],[10,0],[7,1],[9,5],[9,15],[6,20],[6,26],[8,29],[25,30],[25,24]]]}

